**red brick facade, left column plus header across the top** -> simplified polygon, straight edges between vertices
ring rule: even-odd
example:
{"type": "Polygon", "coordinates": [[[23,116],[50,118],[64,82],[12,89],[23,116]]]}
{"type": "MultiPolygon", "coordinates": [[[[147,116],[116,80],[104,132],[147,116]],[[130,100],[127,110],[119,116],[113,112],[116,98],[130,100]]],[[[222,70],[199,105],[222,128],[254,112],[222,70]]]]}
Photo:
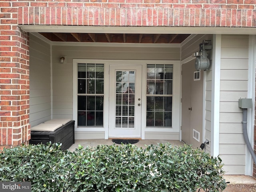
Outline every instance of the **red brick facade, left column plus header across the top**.
{"type": "Polygon", "coordinates": [[[0,150],[30,139],[29,38],[18,24],[256,27],[256,5],[255,0],[0,0],[0,150]]]}

